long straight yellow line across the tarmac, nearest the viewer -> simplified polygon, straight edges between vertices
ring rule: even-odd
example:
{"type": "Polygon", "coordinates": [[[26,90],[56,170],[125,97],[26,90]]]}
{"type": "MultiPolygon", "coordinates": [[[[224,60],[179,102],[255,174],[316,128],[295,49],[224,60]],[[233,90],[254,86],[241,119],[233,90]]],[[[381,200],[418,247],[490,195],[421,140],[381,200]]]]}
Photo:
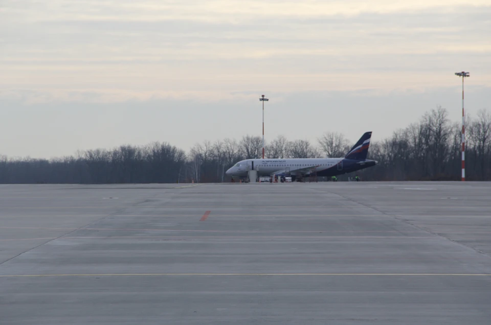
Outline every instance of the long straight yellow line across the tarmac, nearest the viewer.
{"type": "Polygon", "coordinates": [[[12,274],[0,277],[55,276],[491,276],[465,273],[105,273],[105,274],[12,274]]]}

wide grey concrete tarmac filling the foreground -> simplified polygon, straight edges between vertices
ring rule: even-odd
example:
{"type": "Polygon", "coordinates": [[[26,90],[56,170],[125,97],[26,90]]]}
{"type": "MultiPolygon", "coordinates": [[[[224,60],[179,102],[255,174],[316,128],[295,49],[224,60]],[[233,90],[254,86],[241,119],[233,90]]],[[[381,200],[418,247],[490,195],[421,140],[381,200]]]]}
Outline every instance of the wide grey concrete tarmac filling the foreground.
{"type": "Polygon", "coordinates": [[[489,324],[491,183],[0,186],[0,324],[489,324]]]}

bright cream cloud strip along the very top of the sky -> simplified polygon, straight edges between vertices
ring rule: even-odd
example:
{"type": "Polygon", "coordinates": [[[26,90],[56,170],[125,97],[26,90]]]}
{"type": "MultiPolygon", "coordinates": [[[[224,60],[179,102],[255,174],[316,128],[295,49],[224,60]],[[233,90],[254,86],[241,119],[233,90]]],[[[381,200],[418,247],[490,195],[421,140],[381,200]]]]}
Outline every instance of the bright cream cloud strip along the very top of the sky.
{"type": "Polygon", "coordinates": [[[397,12],[416,12],[437,8],[444,12],[457,11],[461,6],[489,6],[486,0],[377,0],[366,2],[363,0],[337,0],[319,2],[306,0],[292,1],[264,1],[264,0],[218,0],[218,1],[157,1],[146,0],[134,2],[120,1],[66,1],[52,0],[50,2],[38,1],[4,1],[4,10],[9,13],[24,13],[29,19],[46,19],[42,13],[49,12],[50,20],[64,19],[101,19],[118,20],[160,20],[160,19],[186,19],[203,21],[236,21],[254,19],[255,17],[326,17],[326,16],[353,16],[363,13],[390,14],[397,12]],[[27,14],[26,14],[27,12],[27,14]]]}

